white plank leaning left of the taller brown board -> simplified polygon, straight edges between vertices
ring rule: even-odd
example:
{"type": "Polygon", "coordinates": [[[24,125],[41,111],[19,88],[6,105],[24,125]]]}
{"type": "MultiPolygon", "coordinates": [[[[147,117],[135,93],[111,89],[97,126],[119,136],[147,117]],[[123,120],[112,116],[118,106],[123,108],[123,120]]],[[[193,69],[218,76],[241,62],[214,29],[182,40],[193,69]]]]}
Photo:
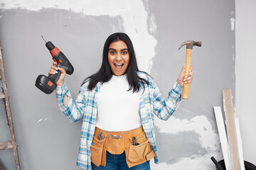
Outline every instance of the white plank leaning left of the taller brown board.
{"type": "Polygon", "coordinates": [[[220,145],[223,152],[225,169],[230,170],[230,157],[228,151],[228,139],[227,133],[225,132],[225,125],[223,120],[223,113],[221,111],[220,106],[214,106],[215,119],[218,127],[218,134],[220,137],[220,145]]]}

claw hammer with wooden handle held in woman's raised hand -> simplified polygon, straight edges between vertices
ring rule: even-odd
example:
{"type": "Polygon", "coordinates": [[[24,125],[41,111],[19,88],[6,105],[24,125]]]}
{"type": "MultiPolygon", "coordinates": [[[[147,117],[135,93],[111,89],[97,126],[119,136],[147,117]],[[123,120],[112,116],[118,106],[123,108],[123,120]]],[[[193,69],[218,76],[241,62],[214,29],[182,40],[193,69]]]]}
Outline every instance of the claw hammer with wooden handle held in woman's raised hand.
{"type": "MultiPolygon", "coordinates": [[[[183,47],[183,45],[186,45],[186,69],[185,69],[185,75],[184,75],[184,79],[185,79],[185,77],[188,75],[188,71],[191,67],[192,48],[194,45],[201,47],[202,42],[201,41],[195,42],[193,40],[187,40],[187,41],[183,42],[180,47],[178,47],[178,50],[180,50],[181,47],[183,47]]],[[[189,84],[183,84],[183,93],[182,93],[183,99],[188,99],[188,91],[189,91],[189,84]]]]}

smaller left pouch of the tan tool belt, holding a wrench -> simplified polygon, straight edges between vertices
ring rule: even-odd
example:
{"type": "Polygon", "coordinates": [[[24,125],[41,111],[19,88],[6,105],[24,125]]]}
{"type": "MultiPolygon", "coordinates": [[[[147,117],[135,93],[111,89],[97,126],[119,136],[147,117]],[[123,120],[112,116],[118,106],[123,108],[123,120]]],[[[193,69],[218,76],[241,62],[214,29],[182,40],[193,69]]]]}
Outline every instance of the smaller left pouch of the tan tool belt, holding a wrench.
{"type": "Polygon", "coordinates": [[[98,140],[97,137],[93,136],[91,145],[91,160],[96,166],[100,166],[102,162],[103,146],[105,145],[106,137],[103,140],[98,140]]]}

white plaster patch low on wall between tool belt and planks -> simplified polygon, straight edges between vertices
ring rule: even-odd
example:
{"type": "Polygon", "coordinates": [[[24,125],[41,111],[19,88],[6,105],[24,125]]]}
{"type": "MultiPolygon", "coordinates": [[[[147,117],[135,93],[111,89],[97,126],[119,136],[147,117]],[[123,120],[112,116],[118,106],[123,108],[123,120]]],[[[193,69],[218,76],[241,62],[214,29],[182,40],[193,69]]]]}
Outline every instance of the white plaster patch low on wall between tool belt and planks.
{"type": "MultiPolygon", "coordinates": [[[[191,157],[183,157],[175,164],[153,164],[151,162],[151,169],[186,169],[186,170],[205,170],[215,169],[215,164],[210,160],[210,157],[215,157],[218,161],[223,159],[220,154],[220,140],[218,134],[213,132],[210,121],[205,115],[196,115],[191,120],[179,119],[171,117],[167,121],[156,120],[156,125],[160,128],[160,132],[175,134],[183,131],[193,131],[200,135],[201,147],[207,149],[208,154],[203,156],[191,155],[191,157]],[[161,121],[161,122],[160,122],[161,121]],[[171,127],[170,127],[171,125],[171,127]]],[[[161,160],[160,160],[161,162],[161,160]]]]}

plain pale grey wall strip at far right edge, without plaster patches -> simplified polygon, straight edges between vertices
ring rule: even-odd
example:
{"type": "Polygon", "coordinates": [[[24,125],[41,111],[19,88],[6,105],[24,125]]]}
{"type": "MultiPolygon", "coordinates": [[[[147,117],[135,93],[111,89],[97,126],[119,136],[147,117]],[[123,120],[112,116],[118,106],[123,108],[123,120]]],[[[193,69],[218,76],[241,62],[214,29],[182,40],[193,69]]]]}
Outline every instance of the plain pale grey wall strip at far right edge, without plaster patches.
{"type": "Polygon", "coordinates": [[[255,38],[256,38],[256,1],[235,1],[235,115],[240,118],[244,159],[256,164],[256,114],[255,95],[255,38]]]}

